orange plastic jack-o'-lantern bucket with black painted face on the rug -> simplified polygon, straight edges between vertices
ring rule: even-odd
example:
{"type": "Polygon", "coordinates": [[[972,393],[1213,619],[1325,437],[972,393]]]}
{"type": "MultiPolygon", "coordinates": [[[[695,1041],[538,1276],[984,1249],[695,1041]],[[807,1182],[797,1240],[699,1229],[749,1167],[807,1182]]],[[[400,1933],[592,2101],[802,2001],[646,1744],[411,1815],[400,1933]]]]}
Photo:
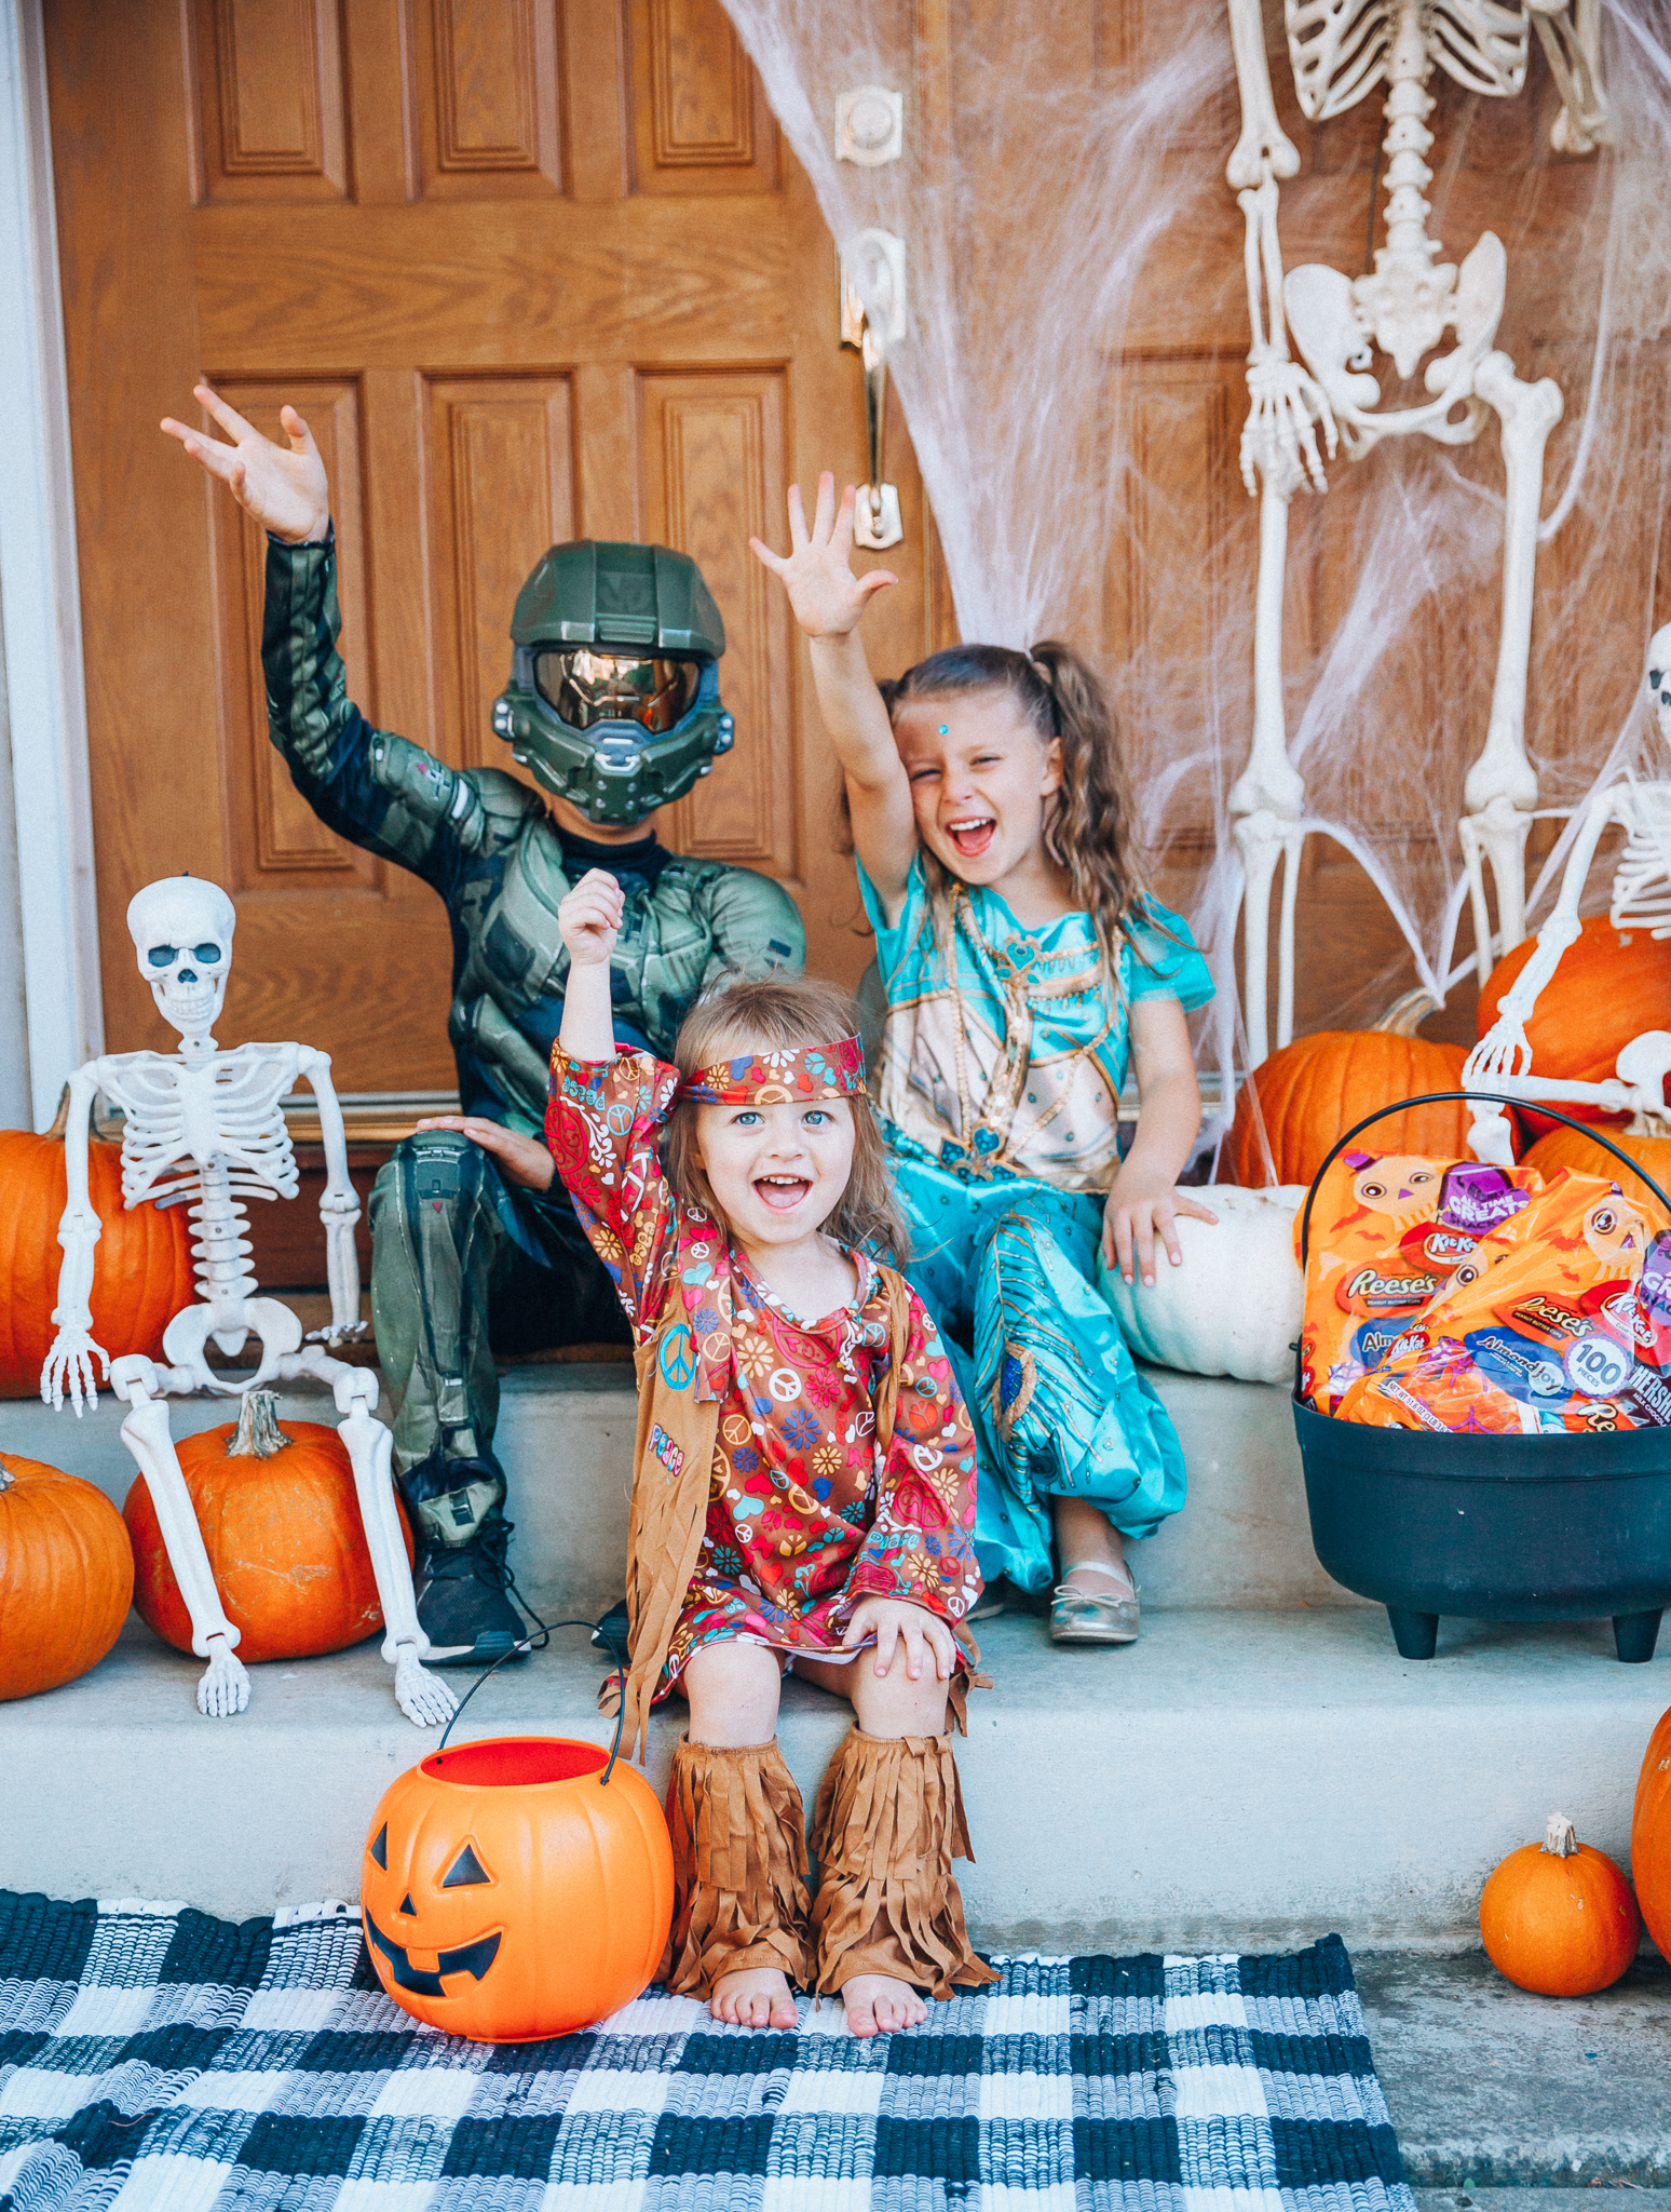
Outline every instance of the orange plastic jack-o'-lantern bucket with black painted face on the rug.
{"type": "Polygon", "coordinates": [[[378,1980],[416,2020],[484,2044],[568,2035],[661,1964],[668,1818],[597,1743],[460,1743],[371,1814],[360,1916],[378,1980]]]}

